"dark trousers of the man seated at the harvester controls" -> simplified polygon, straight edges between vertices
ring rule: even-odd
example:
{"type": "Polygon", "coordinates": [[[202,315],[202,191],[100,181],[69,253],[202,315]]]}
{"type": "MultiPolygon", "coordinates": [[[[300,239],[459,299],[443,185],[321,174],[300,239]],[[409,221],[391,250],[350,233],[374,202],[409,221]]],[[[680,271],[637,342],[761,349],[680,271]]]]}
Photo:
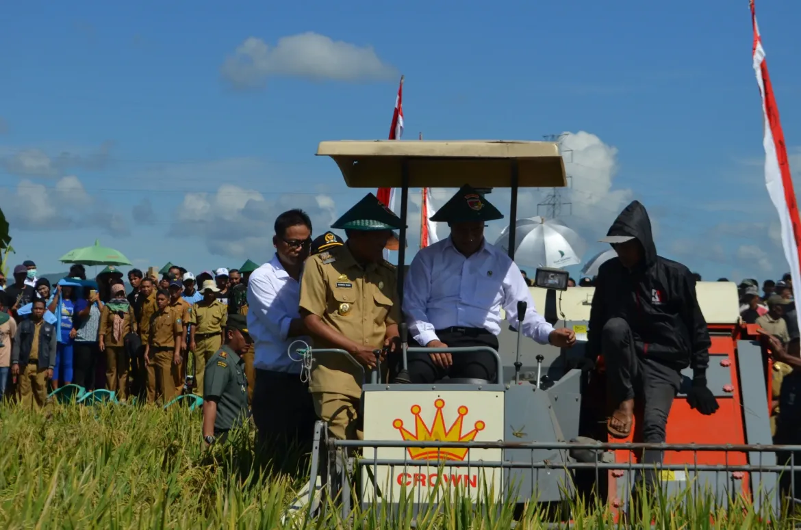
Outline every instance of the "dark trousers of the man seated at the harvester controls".
{"type": "MultiPolygon", "coordinates": [[[[489,346],[498,349],[498,338],[485,329],[477,327],[449,327],[437,330],[437,337],[449,347],[489,346]]],[[[419,347],[409,340],[410,347],[419,347]]],[[[425,345],[424,345],[425,346],[425,345]]],[[[453,364],[448,368],[438,367],[428,353],[408,353],[409,379],[414,384],[429,384],[443,379],[485,379],[494,381],[497,376],[496,360],[486,351],[451,354],[453,364]]]]}

